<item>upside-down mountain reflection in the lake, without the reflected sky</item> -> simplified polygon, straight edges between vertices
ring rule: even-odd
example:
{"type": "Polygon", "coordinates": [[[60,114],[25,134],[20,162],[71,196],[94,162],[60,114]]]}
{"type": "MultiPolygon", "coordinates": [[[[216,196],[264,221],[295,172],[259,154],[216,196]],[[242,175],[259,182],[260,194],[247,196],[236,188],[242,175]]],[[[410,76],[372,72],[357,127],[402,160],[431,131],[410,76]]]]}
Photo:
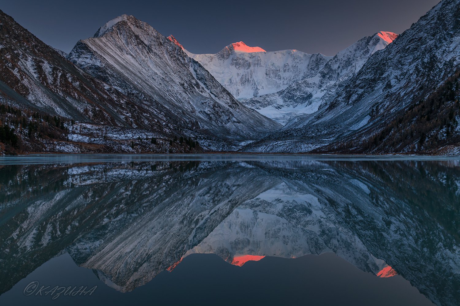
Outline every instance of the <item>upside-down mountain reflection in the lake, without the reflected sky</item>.
{"type": "Polygon", "coordinates": [[[243,266],[333,252],[460,305],[459,161],[115,161],[0,174],[0,293],[64,253],[129,292],[194,253],[243,266]]]}

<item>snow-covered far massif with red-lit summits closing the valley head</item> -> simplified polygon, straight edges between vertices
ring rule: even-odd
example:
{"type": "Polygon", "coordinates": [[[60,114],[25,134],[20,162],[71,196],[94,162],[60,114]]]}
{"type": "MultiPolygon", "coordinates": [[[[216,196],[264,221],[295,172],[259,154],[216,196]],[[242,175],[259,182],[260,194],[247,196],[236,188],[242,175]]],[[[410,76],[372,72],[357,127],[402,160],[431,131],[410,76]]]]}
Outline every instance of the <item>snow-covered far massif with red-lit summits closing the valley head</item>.
{"type": "MultiPolygon", "coordinates": [[[[319,72],[333,56],[307,54],[299,50],[267,52],[260,47],[249,47],[242,41],[230,44],[216,54],[191,54],[184,51],[199,61],[237,99],[258,99],[272,95],[262,98],[264,101],[261,103],[249,102],[247,106],[257,111],[269,107],[268,112],[264,111],[263,114],[284,123],[291,115],[311,111],[310,108],[300,110],[298,106],[303,104],[309,107],[312,98],[322,96],[314,97],[317,91],[328,87],[345,74],[359,70],[369,56],[385,49],[397,37],[398,34],[385,31],[364,37],[340,51],[323,74],[319,72]],[[291,95],[292,90],[289,89],[285,97],[274,95],[277,92],[283,94],[282,90],[303,79],[307,79],[307,84],[301,86],[307,89],[305,94],[291,95]],[[298,108],[298,112],[291,114],[288,111],[289,115],[279,116],[285,100],[292,101],[288,102],[289,107],[298,108]]],[[[313,109],[316,110],[316,106],[313,109]]]]}

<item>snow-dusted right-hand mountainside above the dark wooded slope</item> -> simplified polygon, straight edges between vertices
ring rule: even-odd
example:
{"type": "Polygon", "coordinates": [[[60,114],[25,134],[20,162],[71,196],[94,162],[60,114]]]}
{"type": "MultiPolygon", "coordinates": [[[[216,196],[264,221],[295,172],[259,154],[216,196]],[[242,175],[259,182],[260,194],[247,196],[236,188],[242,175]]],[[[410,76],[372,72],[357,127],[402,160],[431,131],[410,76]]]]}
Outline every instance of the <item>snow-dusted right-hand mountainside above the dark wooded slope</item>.
{"type": "MultiPolygon", "coordinates": [[[[351,145],[360,146],[360,142],[367,142],[376,133],[378,135],[394,118],[403,116],[409,108],[425,101],[442,83],[454,76],[460,67],[459,20],[460,0],[441,1],[385,50],[370,56],[334,95],[324,95],[318,102],[318,111],[293,118],[280,132],[244,150],[324,152],[327,148],[338,151],[343,145],[353,151],[351,145]]],[[[456,103],[455,96],[452,98],[448,100],[448,105],[456,103]]],[[[441,104],[433,102],[429,107],[438,105],[441,104]]],[[[459,119],[458,112],[452,114],[452,123],[449,124],[454,125],[454,131],[458,128],[459,119]]],[[[447,123],[437,122],[439,127],[447,123]]],[[[379,137],[385,136],[381,134],[379,137]]],[[[431,140],[436,142],[439,136],[439,133],[433,133],[424,137],[432,137],[431,140]]],[[[444,130],[441,137],[450,136],[444,130]]],[[[399,145],[390,138],[389,146],[372,152],[424,152],[420,145],[397,150],[399,145]]]]}

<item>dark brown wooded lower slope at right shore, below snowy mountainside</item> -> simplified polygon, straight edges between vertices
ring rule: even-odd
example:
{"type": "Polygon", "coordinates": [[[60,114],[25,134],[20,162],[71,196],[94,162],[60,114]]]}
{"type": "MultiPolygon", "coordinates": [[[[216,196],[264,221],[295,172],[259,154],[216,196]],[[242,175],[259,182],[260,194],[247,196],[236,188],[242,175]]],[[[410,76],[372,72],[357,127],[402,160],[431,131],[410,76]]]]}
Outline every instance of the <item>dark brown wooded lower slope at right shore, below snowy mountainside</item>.
{"type": "MultiPolygon", "coordinates": [[[[358,135],[323,146],[312,153],[409,153],[443,154],[460,145],[460,69],[428,98],[414,102],[382,125],[358,132],[358,135]],[[368,133],[370,133],[370,136],[368,133]]],[[[420,88],[422,91],[423,88],[420,88]]],[[[371,120],[387,113],[378,106],[369,113],[371,120]]]]}

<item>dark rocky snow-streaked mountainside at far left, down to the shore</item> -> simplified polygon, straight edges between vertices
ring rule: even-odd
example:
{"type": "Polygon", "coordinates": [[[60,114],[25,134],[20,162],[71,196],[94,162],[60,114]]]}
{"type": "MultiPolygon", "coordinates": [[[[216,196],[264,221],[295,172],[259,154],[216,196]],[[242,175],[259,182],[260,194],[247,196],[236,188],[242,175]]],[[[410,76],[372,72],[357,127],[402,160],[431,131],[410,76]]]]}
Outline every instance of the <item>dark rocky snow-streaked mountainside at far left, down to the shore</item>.
{"type": "MultiPolygon", "coordinates": [[[[57,115],[65,123],[66,134],[70,132],[67,140],[49,134],[40,137],[43,133],[31,136],[34,133],[21,124],[24,118],[19,112],[8,120],[24,140],[21,151],[168,152],[168,146],[135,149],[132,141],[141,136],[181,136],[180,117],[173,112],[160,104],[144,105],[143,97],[128,97],[92,78],[2,11],[0,41],[0,103],[17,107],[22,115],[38,114],[37,124],[57,115]],[[109,137],[111,132],[114,137],[109,137]]],[[[3,151],[3,145],[0,148],[3,151]]]]}

